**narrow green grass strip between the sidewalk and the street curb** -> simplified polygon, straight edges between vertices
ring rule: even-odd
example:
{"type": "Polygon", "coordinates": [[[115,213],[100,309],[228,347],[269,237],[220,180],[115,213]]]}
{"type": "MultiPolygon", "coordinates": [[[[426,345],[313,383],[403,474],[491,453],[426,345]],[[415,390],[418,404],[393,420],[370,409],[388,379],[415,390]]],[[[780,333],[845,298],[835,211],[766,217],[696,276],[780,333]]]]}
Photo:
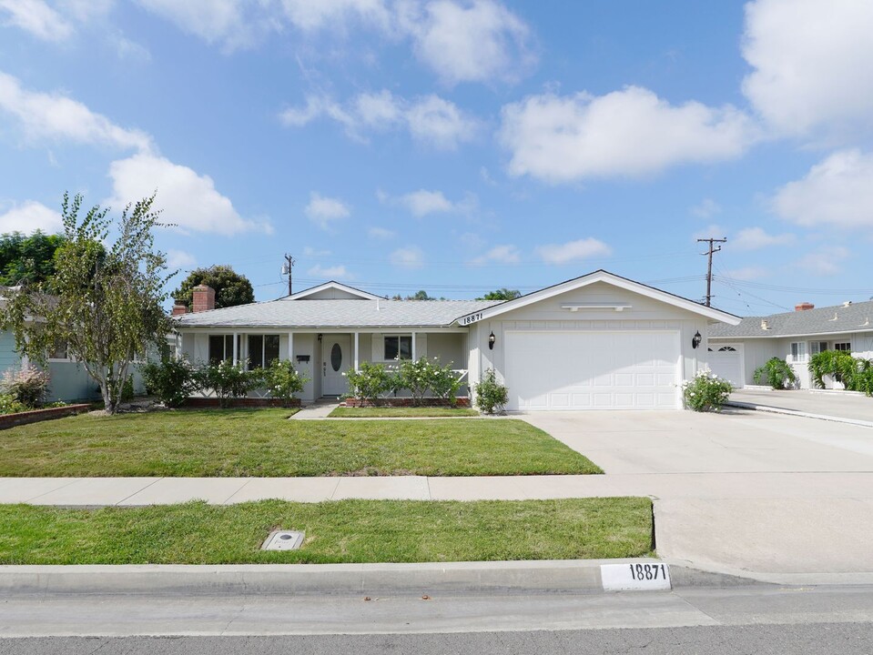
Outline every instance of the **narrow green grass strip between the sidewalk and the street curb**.
{"type": "Polygon", "coordinates": [[[230,564],[602,559],[648,555],[644,498],[262,500],[146,508],[0,506],[0,564],[230,564]],[[299,550],[266,552],[273,529],[299,550]]]}

